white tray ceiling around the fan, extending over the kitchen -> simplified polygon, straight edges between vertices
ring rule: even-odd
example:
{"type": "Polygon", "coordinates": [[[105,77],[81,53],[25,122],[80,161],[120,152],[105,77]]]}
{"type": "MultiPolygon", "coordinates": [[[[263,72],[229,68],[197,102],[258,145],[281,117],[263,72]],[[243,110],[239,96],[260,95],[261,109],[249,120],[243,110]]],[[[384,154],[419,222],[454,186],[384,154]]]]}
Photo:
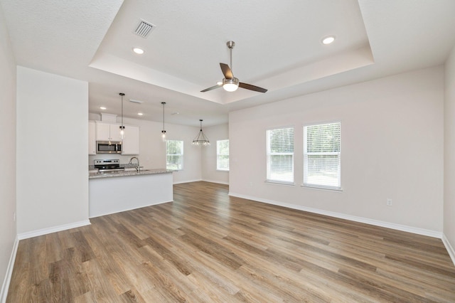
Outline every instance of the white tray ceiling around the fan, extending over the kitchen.
{"type": "MultiPolygon", "coordinates": [[[[89,82],[89,110],[198,126],[228,112],[444,63],[454,0],[0,0],[18,65],[89,82]],[[139,21],[156,27],[134,34],[139,21]],[[325,46],[321,39],[336,36],[325,46]],[[232,71],[264,94],[200,92],[232,71]],[[132,47],[145,50],[136,55],[132,47]],[[129,99],[144,101],[139,105],[129,99]],[[143,112],[139,117],[137,112],[143,112]],[[178,114],[176,114],[178,112],[178,114]]],[[[3,18],[0,16],[0,18],[3,18]]]]}

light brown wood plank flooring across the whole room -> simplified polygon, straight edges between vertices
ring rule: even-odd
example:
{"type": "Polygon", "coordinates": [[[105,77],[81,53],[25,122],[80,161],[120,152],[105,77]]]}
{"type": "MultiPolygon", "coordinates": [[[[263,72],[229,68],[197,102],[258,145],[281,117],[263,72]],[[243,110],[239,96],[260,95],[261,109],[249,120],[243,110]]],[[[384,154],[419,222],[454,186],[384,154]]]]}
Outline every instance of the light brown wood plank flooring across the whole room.
{"type": "Polygon", "coordinates": [[[174,186],[21,240],[7,302],[455,302],[441,240],[174,186]]]}

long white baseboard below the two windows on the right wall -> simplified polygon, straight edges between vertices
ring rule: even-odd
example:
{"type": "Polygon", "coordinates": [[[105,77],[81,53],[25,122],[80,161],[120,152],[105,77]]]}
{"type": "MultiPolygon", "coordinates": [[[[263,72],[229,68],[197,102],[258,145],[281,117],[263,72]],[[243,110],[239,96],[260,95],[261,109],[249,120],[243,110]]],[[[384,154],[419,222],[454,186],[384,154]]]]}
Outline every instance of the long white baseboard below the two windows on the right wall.
{"type": "Polygon", "coordinates": [[[317,208],[309,208],[309,207],[306,207],[306,206],[299,206],[299,205],[290,204],[290,203],[283,203],[283,202],[279,202],[279,201],[262,199],[262,198],[257,198],[257,197],[253,197],[253,196],[245,196],[245,195],[242,195],[242,194],[232,193],[232,192],[229,193],[229,196],[234,196],[234,197],[238,197],[238,198],[245,198],[245,199],[252,200],[252,201],[257,201],[257,202],[262,202],[262,203],[267,203],[267,204],[273,204],[273,205],[277,205],[277,206],[283,206],[283,207],[286,207],[286,208],[293,208],[293,209],[297,209],[299,211],[308,211],[309,213],[318,213],[319,215],[330,216],[330,217],[340,218],[340,219],[346,219],[346,220],[351,220],[351,221],[354,221],[354,222],[365,223],[365,224],[370,224],[370,225],[376,225],[376,226],[380,226],[380,227],[384,227],[384,228],[391,228],[391,229],[395,229],[395,230],[401,230],[401,231],[405,231],[407,233],[415,233],[417,235],[427,235],[427,236],[432,237],[432,238],[439,238],[439,239],[442,238],[442,233],[434,231],[434,230],[427,230],[427,229],[424,229],[424,228],[415,228],[415,227],[412,227],[412,226],[395,224],[395,223],[390,223],[390,222],[385,222],[385,221],[380,221],[380,220],[373,220],[373,219],[369,219],[369,218],[350,216],[350,215],[346,215],[344,213],[335,213],[333,211],[323,211],[323,210],[317,209],[317,208]]]}

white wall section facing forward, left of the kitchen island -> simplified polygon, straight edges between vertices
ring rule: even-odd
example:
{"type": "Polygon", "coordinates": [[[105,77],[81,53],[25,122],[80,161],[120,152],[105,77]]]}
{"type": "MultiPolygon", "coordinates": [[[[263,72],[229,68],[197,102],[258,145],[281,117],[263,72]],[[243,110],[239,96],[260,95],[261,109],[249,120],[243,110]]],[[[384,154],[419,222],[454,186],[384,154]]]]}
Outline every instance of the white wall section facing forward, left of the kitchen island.
{"type": "Polygon", "coordinates": [[[18,66],[19,235],[88,223],[87,120],[88,83],[18,66]]]}

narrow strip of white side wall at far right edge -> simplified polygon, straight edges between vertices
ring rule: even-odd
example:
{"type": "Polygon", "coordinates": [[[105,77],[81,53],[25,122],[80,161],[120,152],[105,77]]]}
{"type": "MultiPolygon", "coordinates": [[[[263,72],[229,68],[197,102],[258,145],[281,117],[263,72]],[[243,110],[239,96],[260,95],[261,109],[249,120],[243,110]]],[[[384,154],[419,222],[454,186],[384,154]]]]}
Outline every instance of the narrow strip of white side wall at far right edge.
{"type": "Polygon", "coordinates": [[[455,47],[444,70],[444,235],[455,263],[455,47]]]}

